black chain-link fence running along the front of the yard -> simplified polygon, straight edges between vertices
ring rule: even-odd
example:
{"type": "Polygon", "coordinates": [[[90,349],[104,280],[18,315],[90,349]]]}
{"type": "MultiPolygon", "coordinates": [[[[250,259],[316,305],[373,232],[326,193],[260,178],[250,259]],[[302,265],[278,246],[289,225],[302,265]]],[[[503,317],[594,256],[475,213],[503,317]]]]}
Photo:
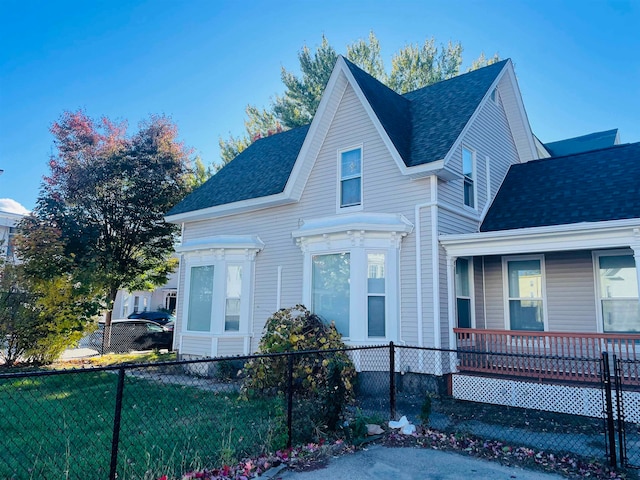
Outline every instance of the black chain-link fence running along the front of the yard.
{"type": "MultiPolygon", "coordinates": [[[[617,461],[638,464],[640,451],[623,450],[640,440],[638,392],[624,386],[624,371],[635,364],[616,364],[613,373],[619,375],[603,375],[594,388],[445,373],[455,371],[459,356],[391,344],[2,374],[0,479],[180,478],[327,435],[354,435],[349,424],[387,428],[389,419],[403,415],[456,438],[603,463],[618,452],[617,461]],[[317,357],[322,363],[345,352],[357,371],[354,399],[330,432],[326,405],[310,404],[303,393],[304,382],[314,379],[294,371],[303,360],[317,357]],[[285,362],[284,386],[246,391],[243,366],[265,358],[285,362]],[[618,397],[624,402],[616,403],[618,397]],[[596,405],[584,407],[593,398],[596,405]],[[571,411],[567,405],[575,400],[584,408],[571,411]],[[615,419],[613,443],[609,413],[615,419]]],[[[580,361],[602,370],[602,359],[580,361]]]]}

